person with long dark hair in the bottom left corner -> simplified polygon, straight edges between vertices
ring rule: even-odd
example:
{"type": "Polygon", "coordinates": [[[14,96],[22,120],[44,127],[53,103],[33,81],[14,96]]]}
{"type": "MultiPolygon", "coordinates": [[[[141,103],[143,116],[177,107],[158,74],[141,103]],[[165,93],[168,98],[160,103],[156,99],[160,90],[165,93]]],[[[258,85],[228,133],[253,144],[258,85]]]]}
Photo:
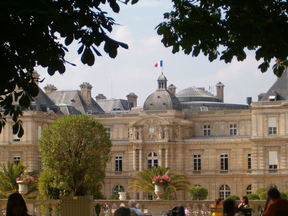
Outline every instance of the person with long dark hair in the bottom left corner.
{"type": "Polygon", "coordinates": [[[21,194],[13,193],[8,197],[6,216],[30,216],[21,194]]]}

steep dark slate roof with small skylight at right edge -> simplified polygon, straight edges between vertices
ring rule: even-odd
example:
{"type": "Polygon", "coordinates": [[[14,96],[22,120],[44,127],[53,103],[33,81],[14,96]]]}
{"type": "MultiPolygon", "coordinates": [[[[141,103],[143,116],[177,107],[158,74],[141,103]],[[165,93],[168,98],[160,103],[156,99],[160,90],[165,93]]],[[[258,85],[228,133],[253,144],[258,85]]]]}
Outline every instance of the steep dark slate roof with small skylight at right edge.
{"type": "MultiPolygon", "coordinates": [[[[269,96],[276,94],[276,101],[288,101],[288,71],[285,69],[273,86],[264,94],[260,101],[269,101],[269,96]]],[[[261,95],[262,96],[262,95],[261,95]]]]}

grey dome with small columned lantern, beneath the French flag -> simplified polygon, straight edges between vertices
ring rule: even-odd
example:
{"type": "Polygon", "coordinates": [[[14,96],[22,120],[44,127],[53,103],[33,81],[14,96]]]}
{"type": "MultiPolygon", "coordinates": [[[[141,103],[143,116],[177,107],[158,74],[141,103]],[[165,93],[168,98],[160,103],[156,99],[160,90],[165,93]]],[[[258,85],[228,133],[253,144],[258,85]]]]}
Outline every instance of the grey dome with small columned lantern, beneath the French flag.
{"type": "Polygon", "coordinates": [[[163,72],[157,81],[158,88],[156,92],[147,97],[143,110],[176,109],[182,111],[182,106],[178,98],[167,90],[167,78],[163,75],[163,72]]]}

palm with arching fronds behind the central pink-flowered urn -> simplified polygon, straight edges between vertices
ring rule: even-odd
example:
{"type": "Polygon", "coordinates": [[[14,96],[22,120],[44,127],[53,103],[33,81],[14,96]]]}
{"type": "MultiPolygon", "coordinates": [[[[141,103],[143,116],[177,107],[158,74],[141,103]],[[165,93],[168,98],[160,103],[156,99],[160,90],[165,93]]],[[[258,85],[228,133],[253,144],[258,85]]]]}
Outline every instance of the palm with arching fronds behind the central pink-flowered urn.
{"type": "Polygon", "coordinates": [[[176,200],[175,193],[181,190],[188,190],[189,188],[186,185],[191,184],[189,181],[185,180],[185,175],[176,174],[175,168],[170,169],[170,167],[164,168],[162,166],[153,166],[151,169],[145,169],[134,175],[132,183],[128,188],[131,188],[132,191],[136,191],[137,193],[143,192],[157,198],[157,195],[154,192],[152,178],[158,175],[168,175],[173,181],[170,185],[164,185],[164,193],[162,195],[163,200],[176,200]]]}

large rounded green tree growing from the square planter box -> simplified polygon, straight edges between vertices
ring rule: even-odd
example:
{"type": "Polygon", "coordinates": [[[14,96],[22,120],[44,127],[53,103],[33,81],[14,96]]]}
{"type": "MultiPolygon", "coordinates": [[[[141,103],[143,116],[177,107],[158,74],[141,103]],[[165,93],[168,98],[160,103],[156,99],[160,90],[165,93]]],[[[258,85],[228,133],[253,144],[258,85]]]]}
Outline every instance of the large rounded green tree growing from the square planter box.
{"type": "Polygon", "coordinates": [[[85,195],[105,178],[112,143],[98,121],[67,115],[42,131],[39,149],[44,170],[67,185],[74,196],[85,195]]]}

